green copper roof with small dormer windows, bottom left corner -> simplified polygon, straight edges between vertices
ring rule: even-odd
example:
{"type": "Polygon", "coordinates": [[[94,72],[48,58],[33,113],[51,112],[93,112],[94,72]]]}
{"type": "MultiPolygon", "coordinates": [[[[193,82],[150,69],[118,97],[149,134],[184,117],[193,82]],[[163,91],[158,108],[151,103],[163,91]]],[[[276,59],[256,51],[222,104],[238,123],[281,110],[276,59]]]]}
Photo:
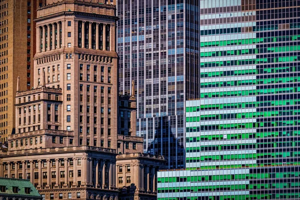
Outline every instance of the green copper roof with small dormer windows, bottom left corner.
{"type": "Polygon", "coordinates": [[[5,191],[0,190],[0,194],[13,194],[13,195],[23,195],[23,196],[40,196],[37,189],[29,180],[16,179],[16,178],[2,178],[0,177],[0,186],[6,186],[5,191]],[[13,192],[12,187],[18,187],[18,192],[13,192]],[[25,187],[30,188],[30,192],[25,192],[25,187]]]}

